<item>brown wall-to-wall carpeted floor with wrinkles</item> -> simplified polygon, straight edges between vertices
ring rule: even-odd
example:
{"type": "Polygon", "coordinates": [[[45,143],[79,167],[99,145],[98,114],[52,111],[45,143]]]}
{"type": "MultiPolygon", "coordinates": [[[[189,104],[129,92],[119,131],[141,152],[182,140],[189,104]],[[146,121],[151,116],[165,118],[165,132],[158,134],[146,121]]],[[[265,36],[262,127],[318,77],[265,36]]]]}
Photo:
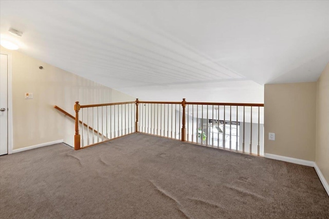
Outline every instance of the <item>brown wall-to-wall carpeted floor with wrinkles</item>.
{"type": "Polygon", "coordinates": [[[1,218],[329,218],[311,167],[132,134],[0,157],[1,218]]]}

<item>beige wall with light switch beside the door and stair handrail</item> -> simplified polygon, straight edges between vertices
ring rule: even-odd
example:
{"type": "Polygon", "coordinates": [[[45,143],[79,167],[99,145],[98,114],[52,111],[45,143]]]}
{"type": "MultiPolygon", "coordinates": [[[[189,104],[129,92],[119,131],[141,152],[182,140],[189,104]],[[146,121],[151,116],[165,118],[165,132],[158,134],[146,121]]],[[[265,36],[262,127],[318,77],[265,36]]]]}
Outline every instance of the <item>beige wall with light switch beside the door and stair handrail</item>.
{"type": "Polygon", "coordinates": [[[76,101],[85,105],[135,100],[20,52],[3,47],[1,51],[12,54],[13,149],[62,139],[73,145],[74,121],[54,105],[74,114],[76,101]],[[24,98],[27,92],[33,93],[33,99],[24,98]]]}

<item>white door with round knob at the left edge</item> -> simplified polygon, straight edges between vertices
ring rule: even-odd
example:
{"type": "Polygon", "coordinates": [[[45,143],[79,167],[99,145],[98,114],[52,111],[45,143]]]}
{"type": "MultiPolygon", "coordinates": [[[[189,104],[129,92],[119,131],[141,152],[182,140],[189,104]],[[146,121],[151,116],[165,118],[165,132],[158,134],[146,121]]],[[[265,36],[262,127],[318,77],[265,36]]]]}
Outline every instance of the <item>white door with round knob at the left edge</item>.
{"type": "Polygon", "coordinates": [[[3,155],[8,153],[8,55],[0,55],[0,155],[3,155]]]}

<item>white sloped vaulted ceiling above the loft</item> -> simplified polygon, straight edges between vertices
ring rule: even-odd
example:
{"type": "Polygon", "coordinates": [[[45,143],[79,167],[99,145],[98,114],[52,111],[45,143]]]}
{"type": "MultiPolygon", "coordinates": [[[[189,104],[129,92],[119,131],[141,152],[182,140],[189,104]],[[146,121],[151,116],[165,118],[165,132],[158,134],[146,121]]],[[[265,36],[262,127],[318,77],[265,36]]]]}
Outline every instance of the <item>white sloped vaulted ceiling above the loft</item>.
{"type": "Polygon", "coordinates": [[[329,61],[329,1],[0,7],[1,38],[20,52],[150,101],[263,103],[264,84],[317,81],[329,61]]]}

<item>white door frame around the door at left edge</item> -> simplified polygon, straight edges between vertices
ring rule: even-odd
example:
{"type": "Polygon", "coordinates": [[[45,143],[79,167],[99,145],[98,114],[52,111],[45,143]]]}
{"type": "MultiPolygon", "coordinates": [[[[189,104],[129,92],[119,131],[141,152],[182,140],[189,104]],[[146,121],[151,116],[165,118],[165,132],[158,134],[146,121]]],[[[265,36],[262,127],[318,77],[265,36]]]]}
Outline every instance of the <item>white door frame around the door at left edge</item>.
{"type": "Polygon", "coordinates": [[[12,135],[12,54],[6,51],[0,51],[8,57],[7,66],[7,96],[8,96],[8,154],[12,153],[13,149],[13,135],[12,135]]]}

